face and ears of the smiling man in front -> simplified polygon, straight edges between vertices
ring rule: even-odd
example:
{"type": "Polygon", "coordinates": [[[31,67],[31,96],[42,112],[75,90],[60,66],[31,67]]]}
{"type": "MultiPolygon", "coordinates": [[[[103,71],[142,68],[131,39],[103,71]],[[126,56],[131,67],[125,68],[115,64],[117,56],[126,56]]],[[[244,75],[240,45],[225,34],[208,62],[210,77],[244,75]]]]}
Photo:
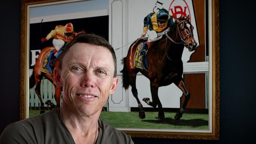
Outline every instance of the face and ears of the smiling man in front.
{"type": "Polygon", "coordinates": [[[117,87],[114,62],[107,48],[87,43],[74,44],[54,74],[63,87],[63,103],[75,113],[87,116],[100,113],[117,87]]]}

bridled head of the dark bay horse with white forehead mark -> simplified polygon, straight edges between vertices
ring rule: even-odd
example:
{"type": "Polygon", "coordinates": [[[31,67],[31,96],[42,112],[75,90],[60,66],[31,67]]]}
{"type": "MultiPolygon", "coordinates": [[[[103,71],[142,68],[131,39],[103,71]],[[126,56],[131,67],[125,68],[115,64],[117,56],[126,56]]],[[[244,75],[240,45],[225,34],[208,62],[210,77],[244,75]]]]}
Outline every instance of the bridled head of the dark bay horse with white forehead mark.
{"type": "Polygon", "coordinates": [[[177,33],[180,35],[180,39],[183,41],[186,48],[188,48],[189,52],[196,49],[197,42],[193,36],[193,29],[194,27],[189,22],[189,15],[184,18],[174,18],[176,26],[177,26],[177,33]]]}

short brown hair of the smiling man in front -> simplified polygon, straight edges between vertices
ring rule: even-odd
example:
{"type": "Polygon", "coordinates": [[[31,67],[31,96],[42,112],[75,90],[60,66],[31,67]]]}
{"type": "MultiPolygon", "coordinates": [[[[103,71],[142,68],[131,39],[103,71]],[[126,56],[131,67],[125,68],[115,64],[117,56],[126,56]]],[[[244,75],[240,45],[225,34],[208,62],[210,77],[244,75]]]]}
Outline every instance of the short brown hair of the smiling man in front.
{"type": "Polygon", "coordinates": [[[91,33],[91,34],[79,33],[72,41],[69,42],[69,44],[67,44],[66,48],[63,50],[62,58],[59,63],[59,68],[61,68],[62,59],[67,54],[67,52],[69,52],[70,47],[78,42],[94,44],[96,46],[103,46],[103,47],[107,48],[109,50],[109,52],[111,53],[113,62],[114,62],[114,68],[115,68],[114,77],[117,76],[117,58],[115,56],[115,50],[113,49],[113,47],[109,44],[109,42],[106,39],[104,39],[103,37],[100,37],[99,35],[95,35],[93,33],[91,33]]]}

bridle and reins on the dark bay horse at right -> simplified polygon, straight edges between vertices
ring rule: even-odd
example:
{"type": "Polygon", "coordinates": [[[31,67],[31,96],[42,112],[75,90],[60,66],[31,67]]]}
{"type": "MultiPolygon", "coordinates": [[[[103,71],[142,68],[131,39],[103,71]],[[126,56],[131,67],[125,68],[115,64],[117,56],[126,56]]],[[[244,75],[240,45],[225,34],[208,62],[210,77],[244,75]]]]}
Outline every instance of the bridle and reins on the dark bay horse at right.
{"type": "Polygon", "coordinates": [[[170,41],[172,41],[174,44],[184,44],[184,46],[186,46],[187,48],[188,48],[188,46],[187,46],[187,44],[186,44],[186,42],[185,42],[185,39],[187,39],[187,37],[189,36],[189,35],[192,35],[193,36],[193,33],[192,33],[192,31],[191,31],[191,29],[189,28],[189,33],[185,36],[185,37],[183,37],[183,35],[182,35],[182,33],[181,33],[181,31],[180,31],[180,24],[183,24],[184,22],[189,22],[188,20],[182,20],[181,22],[179,22],[178,24],[177,24],[177,28],[176,28],[176,38],[178,38],[178,34],[179,34],[179,36],[180,36],[180,39],[181,39],[181,41],[182,42],[176,42],[176,41],[174,41],[171,37],[169,37],[169,35],[167,34],[168,33],[168,31],[165,31],[165,36],[166,36],[166,40],[165,40],[165,55],[166,55],[166,57],[169,59],[169,60],[171,60],[171,61],[179,61],[179,60],[173,60],[173,59],[171,59],[169,56],[168,56],[168,54],[167,54],[167,52],[166,52],[166,44],[167,44],[167,38],[170,40],[170,41]]]}

